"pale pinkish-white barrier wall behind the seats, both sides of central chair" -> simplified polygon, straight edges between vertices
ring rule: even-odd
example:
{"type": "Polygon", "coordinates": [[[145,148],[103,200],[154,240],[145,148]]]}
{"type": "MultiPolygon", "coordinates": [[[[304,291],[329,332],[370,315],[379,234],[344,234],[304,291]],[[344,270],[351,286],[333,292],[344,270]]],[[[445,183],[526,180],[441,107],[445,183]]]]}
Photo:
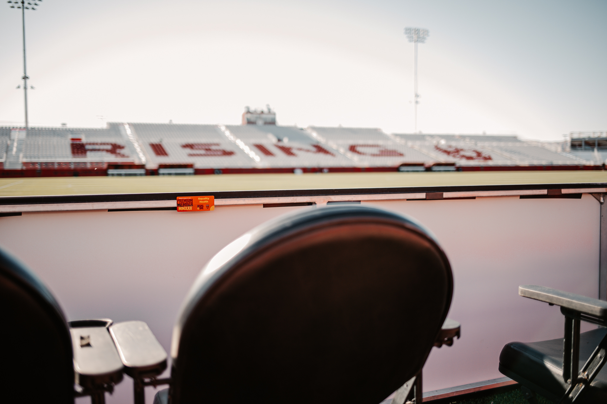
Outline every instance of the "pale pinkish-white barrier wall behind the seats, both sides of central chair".
{"type": "MultiPolygon", "coordinates": [[[[504,344],[563,335],[558,307],[519,297],[518,285],[598,296],[600,205],[589,194],[362,203],[414,217],[435,233],[452,264],[449,317],[462,324],[462,337],[433,349],[425,391],[501,377],[504,344]]],[[[169,351],[181,301],[207,260],[265,220],[314,208],[23,213],[0,217],[0,246],[41,277],[69,320],[143,320],[169,351]]],[[[132,403],[131,386],[125,376],[107,402],[132,403]]],[[[154,389],[147,394],[151,403],[154,389]]]]}

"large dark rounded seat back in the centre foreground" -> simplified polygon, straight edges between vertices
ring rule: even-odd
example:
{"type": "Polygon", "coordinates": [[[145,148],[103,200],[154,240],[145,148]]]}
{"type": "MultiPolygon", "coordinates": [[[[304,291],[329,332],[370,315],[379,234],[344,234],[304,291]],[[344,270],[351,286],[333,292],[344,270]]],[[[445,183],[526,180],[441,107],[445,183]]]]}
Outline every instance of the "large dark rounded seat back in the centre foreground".
{"type": "Polygon", "coordinates": [[[377,404],[426,362],[452,291],[447,257],[407,217],[280,217],[220,251],[186,297],[172,402],[377,404]]]}

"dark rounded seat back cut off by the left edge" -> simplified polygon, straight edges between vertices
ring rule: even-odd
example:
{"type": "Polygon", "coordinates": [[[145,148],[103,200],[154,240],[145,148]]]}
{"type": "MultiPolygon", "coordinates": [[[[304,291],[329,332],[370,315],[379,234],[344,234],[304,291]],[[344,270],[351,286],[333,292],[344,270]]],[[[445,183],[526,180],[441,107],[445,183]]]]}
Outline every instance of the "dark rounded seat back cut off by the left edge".
{"type": "Polygon", "coordinates": [[[72,343],[46,286],[0,250],[2,402],[73,403],[72,343]]]}

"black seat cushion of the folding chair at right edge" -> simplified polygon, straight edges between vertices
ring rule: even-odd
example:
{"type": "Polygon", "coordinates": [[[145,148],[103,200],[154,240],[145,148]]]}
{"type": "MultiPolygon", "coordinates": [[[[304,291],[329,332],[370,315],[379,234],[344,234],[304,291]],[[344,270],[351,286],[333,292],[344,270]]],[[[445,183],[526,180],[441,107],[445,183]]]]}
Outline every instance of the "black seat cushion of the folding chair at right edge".
{"type": "MultiPolygon", "coordinates": [[[[607,333],[597,328],[580,334],[580,369],[607,333]]],[[[540,342],[510,342],[501,350],[500,372],[547,399],[558,402],[568,385],[563,381],[563,338],[540,342]]],[[[579,402],[607,401],[607,367],[603,367],[579,402]]],[[[577,401],[576,401],[577,402],[577,401]]]]}

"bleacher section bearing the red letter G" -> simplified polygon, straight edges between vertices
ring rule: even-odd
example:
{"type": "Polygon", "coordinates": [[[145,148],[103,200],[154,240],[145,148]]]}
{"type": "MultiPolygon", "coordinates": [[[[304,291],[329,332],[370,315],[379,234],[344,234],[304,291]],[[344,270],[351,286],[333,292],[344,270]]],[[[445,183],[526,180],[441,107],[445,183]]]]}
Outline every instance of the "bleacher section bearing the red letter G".
{"type": "Polygon", "coordinates": [[[398,167],[435,160],[395,141],[378,128],[308,127],[307,131],[317,141],[341,151],[361,167],[398,167]]]}

